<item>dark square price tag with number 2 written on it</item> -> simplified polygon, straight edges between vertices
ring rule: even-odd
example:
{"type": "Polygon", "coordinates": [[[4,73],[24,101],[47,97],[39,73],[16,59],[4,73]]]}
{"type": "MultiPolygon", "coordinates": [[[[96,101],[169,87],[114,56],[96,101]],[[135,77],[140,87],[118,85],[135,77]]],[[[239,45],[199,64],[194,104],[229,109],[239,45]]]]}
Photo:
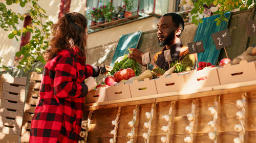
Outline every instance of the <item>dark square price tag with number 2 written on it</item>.
{"type": "Polygon", "coordinates": [[[214,33],[211,36],[212,39],[214,39],[217,50],[232,45],[232,40],[228,29],[214,33]]]}

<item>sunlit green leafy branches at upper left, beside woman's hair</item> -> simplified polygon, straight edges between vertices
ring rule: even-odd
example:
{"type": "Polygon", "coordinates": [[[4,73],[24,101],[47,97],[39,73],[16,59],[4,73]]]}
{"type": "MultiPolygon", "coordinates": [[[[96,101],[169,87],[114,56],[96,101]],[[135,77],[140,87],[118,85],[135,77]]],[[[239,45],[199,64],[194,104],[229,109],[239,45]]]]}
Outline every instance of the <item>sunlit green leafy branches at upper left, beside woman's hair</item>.
{"type": "Polygon", "coordinates": [[[49,46],[50,26],[52,21],[42,22],[42,19],[48,19],[45,15],[46,11],[38,5],[39,0],[5,0],[6,5],[19,4],[20,7],[25,5],[31,5],[28,11],[28,15],[32,18],[32,24],[27,27],[18,28],[15,24],[18,24],[18,20],[24,20],[26,15],[15,13],[11,9],[7,9],[4,3],[0,3],[0,26],[5,31],[12,30],[12,33],[8,35],[9,39],[15,38],[17,41],[25,36],[27,32],[30,32],[33,36],[29,43],[16,52],[15,56],[20,57],[23,55],[22,60],[18,63],[17,68],[28,71],[36,61],[46,63],[42,57],[42,52],[49,46]]]}

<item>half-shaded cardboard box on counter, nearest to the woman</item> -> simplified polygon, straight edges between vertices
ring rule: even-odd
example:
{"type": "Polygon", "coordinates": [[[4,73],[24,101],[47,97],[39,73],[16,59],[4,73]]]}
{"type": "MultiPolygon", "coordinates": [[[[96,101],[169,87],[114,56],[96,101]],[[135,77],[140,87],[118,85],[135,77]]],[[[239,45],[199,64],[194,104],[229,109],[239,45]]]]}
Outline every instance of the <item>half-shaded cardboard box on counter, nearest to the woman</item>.
{"type": "Polygon", "coordinates": [[[108,97],[106,97],[106,88],[108,87],[100,87],[96,90],[91,90],[90,92],[88,92],[86,96],[87,103],[108,101],[108,97]]]}

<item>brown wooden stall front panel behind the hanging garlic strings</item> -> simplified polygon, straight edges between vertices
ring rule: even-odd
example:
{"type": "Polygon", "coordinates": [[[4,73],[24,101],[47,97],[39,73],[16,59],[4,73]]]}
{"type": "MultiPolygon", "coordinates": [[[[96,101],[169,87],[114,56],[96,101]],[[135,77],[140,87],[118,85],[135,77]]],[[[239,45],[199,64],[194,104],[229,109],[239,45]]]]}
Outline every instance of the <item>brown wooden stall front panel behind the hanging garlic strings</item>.
{"type": "MultiPolygon", "coordinates": [[[[239,124],[236,119],[236,112],[239,110],[236,106],[236,101],[241,99],[243,92],[230,93],[221,95],[219,108],[219,119],[217,122],[219,139],[221,142],[232,142],[234,137],[238,137],[238,132],[234,132],[234,125],[239,124]],[[229,136],[229,137],[227,137],[229,136]]],[[[196,118],[194,126],[194,135],[196,142],[210,142],[208,132],[212,129],[207,126],[207,123],[213,119],[213,116],[208,111],[208,107],[214,106],[215,96],[201,97],[196,99],[196,118]]],[[[189,125],[186,118],[187,113],[191,112],[192,99],[183,99],[176,102],[173,109],[173,124],[170,134],[173,142],[183,142],[185,138],[185,127],[189,125]]],[[[251,142],[255,139],[256,131],[256,90],[247,93],[246,104],[246,139],[251,142]],[[254,134],[252,134],[254,133],[254,134]]],[[[155,113],[152,121],[152,140],[151,142],[160,142],[160,137],[164,135],[161,130],[162,126],[166,126],[167,122],[162,119],[163,115],[168,114],[170,101],[159,102],[156,105],[155,113]]],[[[148,119],[145,117],[145,112],[151,110],[150,104],[141,104],[138,111],[137,123],[135,125],[135,142],[143,142],[142,135],[147,132],[143,127],[144,122],[148,119]]],[[[117,142],[125,142],[128,140],[127,133],[131,131],[131,127],[127,125],[133,118],[133,109],[135,105],[123,106],[121,109],[120,122],[118,125],[117,142]]],[[[111,126],[111,121],[115,120],[118,108],[99,109],[93,112],[88,142],[108,142],[113,137],[110,134],[114,129],[111,126]],[[104,120],[102,120],[104,119],[104,120]],[[102,130],[104,127],[104,130],[102,130]]],[[[87,115],[87,112],[85,113],[87,115]]],[[[195,141],[195,140],[194,140],[195,141]]]]}

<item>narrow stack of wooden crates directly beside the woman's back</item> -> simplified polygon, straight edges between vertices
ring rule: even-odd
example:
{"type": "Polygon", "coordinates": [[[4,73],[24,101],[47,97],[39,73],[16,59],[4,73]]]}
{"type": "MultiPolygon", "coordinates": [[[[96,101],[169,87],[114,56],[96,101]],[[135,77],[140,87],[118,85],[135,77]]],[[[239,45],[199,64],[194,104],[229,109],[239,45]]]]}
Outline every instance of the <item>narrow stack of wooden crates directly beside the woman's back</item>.
{"type": "Polygon", "coordinates": [[[20,143],[29,142],[29,134],[31,129],[31,120],[35,110],[35,106],[39,101],[39,88],[41,84],[42,74],[32,72],[30,77],[29,90],[24,107],[24,116],[22,123],[22,134],[20,143]]]}

